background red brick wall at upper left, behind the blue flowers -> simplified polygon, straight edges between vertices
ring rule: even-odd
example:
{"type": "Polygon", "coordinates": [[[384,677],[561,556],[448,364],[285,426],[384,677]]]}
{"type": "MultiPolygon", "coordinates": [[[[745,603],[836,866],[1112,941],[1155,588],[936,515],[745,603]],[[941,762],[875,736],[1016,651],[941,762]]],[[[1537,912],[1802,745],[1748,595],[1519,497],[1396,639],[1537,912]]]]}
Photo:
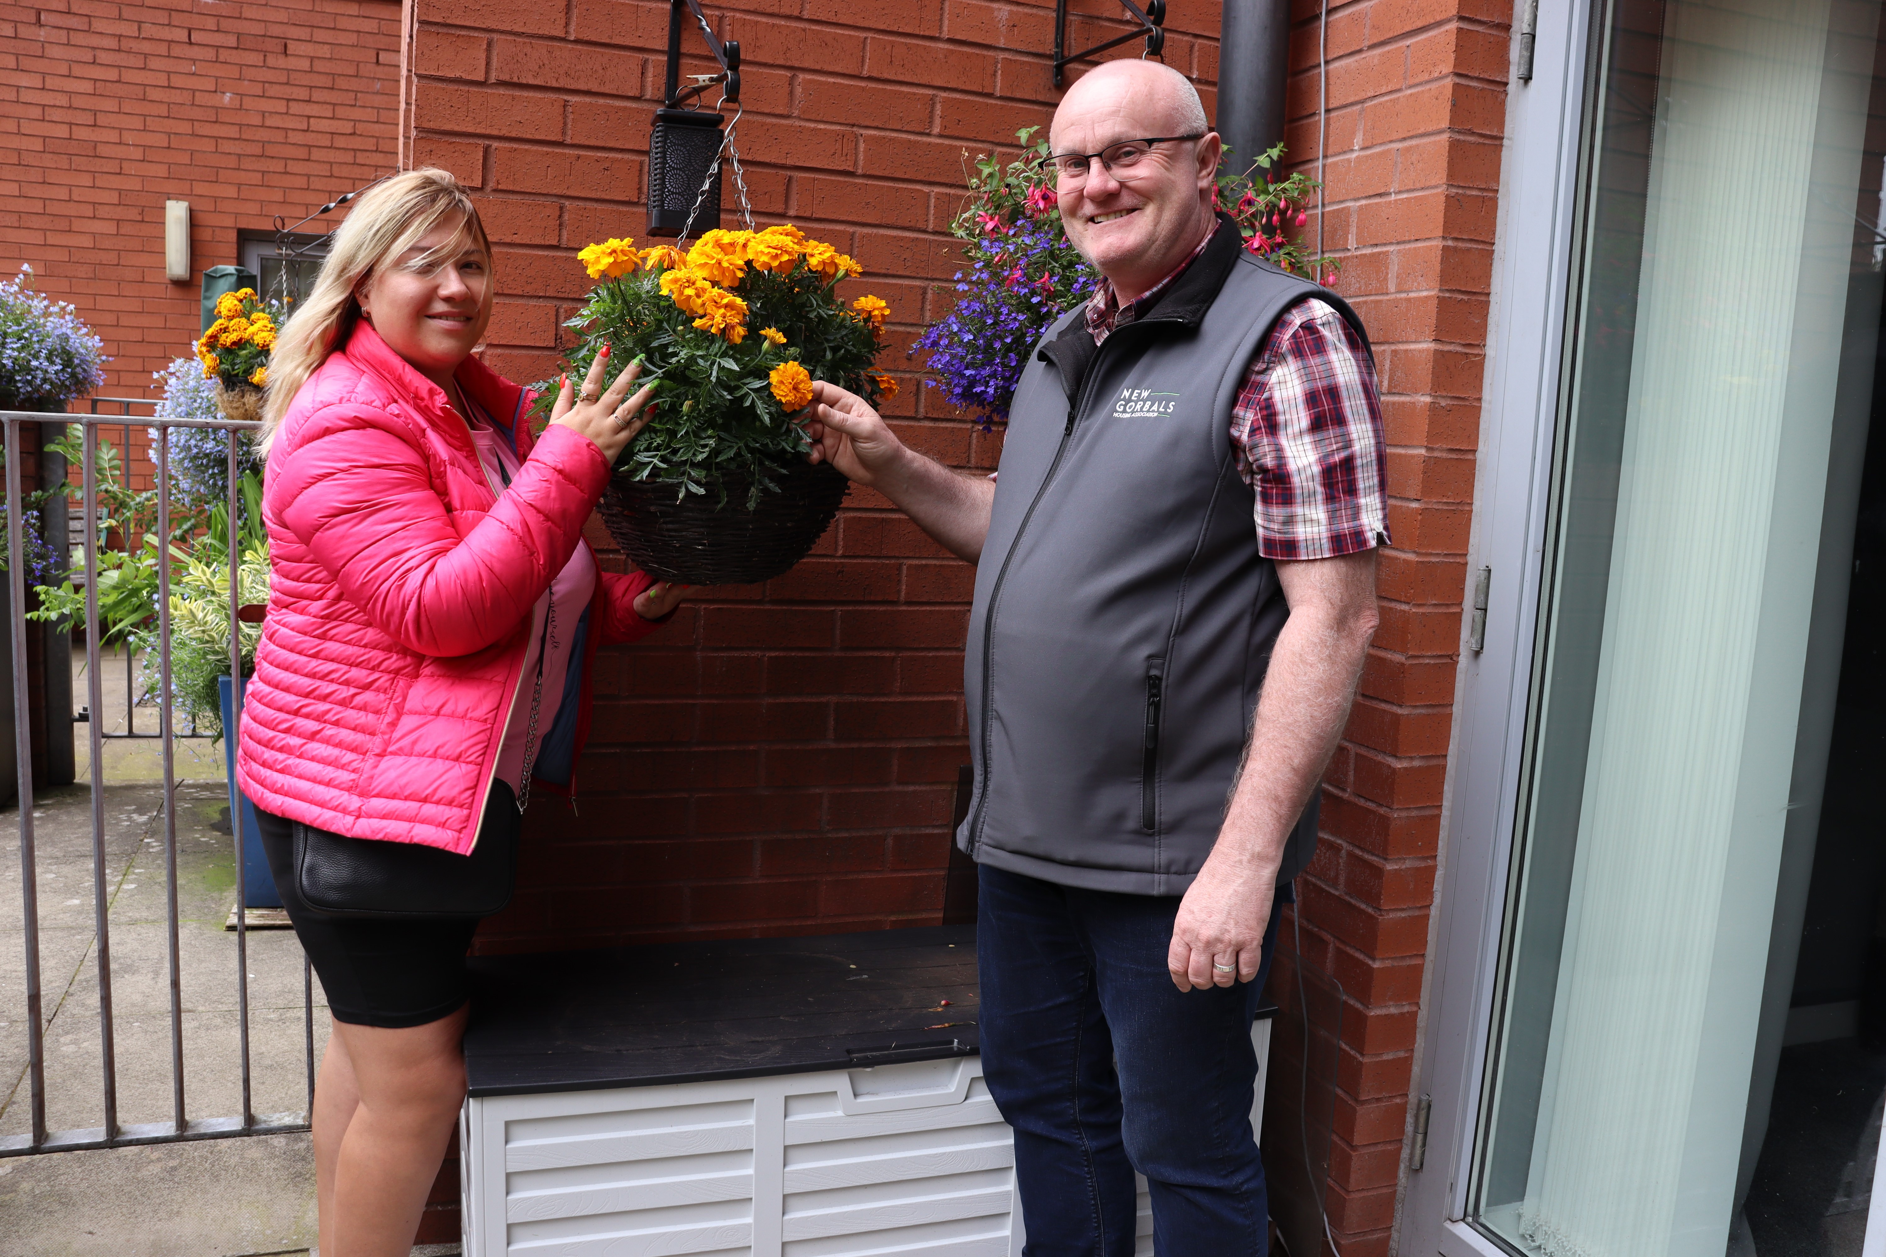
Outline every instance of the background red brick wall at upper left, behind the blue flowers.
{"type": "Polygon", "coordinates": [[[398,87],[390,0],[0,4],[0,271],[79,307],[102,394],[151,396],[200,309],[164,279],[164,202],[190,202],[192,271],[236,264],[238,230],[396,168],[398,87]]]}

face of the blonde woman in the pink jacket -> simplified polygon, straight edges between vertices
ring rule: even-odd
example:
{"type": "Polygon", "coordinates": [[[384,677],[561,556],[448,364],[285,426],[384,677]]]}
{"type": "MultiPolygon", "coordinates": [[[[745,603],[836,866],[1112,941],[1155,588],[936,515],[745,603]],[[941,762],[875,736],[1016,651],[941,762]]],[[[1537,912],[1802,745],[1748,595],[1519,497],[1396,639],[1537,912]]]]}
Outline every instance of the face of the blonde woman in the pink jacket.
{"type": "Polygon", "coordinates": [[[485,337],[490,298],[490,258],[458,215],[389,258],[356,294],[379,339],[439,388],[485,337]]]}

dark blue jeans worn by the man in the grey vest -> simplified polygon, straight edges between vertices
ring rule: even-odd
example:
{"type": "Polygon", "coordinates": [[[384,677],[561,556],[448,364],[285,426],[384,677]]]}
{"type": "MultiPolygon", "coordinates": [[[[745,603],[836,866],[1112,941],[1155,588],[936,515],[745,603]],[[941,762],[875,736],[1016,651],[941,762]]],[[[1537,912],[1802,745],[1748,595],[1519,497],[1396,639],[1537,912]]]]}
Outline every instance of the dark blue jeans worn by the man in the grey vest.
{"type": "Polygon", "coordinates": [[[1130,1257],[1133,1170],[1150,1184],[1162,1257],[1266,1255],[1250,1020],[1277,905],[1256,980],[1209,991],[1166,972],[1177,914],[1179,897],[981,865],[983,1070],[1015,1127],[1028,1257],[1130,1257]]]}

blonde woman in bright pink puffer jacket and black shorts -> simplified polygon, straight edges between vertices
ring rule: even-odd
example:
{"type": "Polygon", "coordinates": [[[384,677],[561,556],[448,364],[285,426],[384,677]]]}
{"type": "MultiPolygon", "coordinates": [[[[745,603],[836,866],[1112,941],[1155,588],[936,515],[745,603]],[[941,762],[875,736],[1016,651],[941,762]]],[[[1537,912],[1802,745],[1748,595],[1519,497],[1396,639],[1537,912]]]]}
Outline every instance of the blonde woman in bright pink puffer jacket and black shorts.
{"type": "Polygon", "coordinates": [[[356,202],[272,364],[273,580],[236,771],[334,1018],[313,1114],[326,1257],[411,1248],[464,1097],[477,918],[311,908],[294,827],[368,869],[383,844],[515,848],[532,786],[573,788],[596,646],[681,597],[598,571],[583,541],[647,422],[636,367],[566,381],[532,439],[530,398],[470,356],[490,303],[472,200],[407,171],[356,202]]]}

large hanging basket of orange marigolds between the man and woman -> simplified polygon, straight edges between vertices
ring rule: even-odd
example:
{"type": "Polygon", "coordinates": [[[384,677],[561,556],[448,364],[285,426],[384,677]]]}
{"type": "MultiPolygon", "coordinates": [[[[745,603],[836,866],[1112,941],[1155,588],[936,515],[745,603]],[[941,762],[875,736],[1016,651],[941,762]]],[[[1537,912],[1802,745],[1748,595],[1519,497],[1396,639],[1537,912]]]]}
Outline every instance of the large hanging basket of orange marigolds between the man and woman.
{"type": "MultiPolygon", "coordinates": [[[[805,558],[849,482],[807,464],[794,418],[822,379],[879,405],[896,381],[875,369],[890,307],[847,303],[862,268],[794,226],[707,232],[687,253],[607,239],[579,254],[596,279],[570,320],[585,379],[609,347],[607,377],[641,358],[654,415],[622,458],[602,518],[637,567],[687,584],[754,584],[805,558]],[[620,364],[620,366],[617,366],[620,364]]],[[[539,411],[554,388],[539,386],[539,411]]]]}

